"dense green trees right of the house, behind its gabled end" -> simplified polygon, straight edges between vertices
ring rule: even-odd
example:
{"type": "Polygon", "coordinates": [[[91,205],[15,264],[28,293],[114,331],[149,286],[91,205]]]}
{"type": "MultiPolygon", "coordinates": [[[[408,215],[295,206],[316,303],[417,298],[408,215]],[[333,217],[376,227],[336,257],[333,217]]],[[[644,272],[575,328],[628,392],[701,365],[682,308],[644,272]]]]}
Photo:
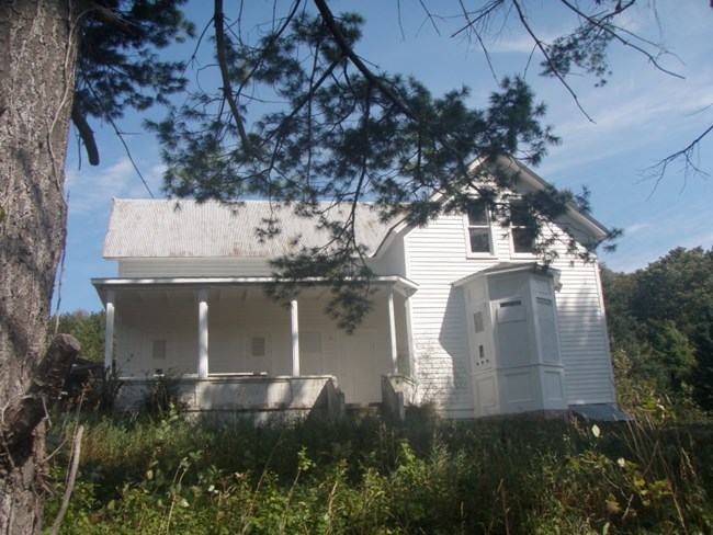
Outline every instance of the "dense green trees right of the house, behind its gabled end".
{"type": "Polygon", "coordinates": [[[671,397],[713,409],[713,249],[677,248],[634,273],[602,270],[614,353],[671,397]]]}

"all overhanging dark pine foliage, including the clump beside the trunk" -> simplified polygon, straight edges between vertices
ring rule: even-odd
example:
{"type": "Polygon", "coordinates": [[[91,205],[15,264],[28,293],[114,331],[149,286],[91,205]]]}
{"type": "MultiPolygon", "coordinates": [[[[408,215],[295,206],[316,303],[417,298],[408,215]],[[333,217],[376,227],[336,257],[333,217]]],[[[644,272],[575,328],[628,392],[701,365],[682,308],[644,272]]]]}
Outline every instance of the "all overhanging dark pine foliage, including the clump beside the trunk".
{"type": "MultiPolygon", "coordinates": [[[[88,12],[72,118],[90,161],[98,155],[87,116],[113,122],[126,106],[169,104],[169,96],[185,88],[184,65],[155,54],[171,39],[192,35],[182,3],[114,0],[88,12]]],[[[584,8],[562,0],[555,9],[577,23],[551,42],[541,37],[524,0],[446,2],[433,8],[438,13],[425,3],[404,9],[423,10],[434,25],[457,21],[453,35],[465,35],[486,55],[488,37],[514,22],[544,58],[542,73],[558,79],[576,100],[569,77],[590,75],[602,84],[614,44],[634,48],[664,70],[657,58],[665,48],[619,22],[635,4],[599,0],[584,8]]],[[[344,327],[352,328],[370,309],[365,250],[353,225],[354,207],[363,200],[374,201],[385,219],[425,224],[443,212],[468,209],[474,200],[464,192],[469,191],[495,219],[510,223],[507,192],[517,173],[503,172],[495,157],[537,163],[557,141],[541,124],[544,105],[522,79],[503,79],[486,105],[472,107],[467,88],[433,95],[418,80],[362,59],[356,49],[364,21],[358,13],[336,14],[325,0],[293,0],[275,4],[271,20],[248,27],[244,11],[250,9],[214,2],[202,36],[213,34],[215,65],[207,68],[215,68],[219,83],[195,88],[150,127],[163,147],[169,194],[231,203],[267,197],[294,204],[328,231],[325,247],[296,250],[275,262],[276,299],[294,295],[305,275],[319,276],[331,284],[328,310],[344,327]],[[474,160],[486,166],[475,168],[474,160]],[[342,205],[349,215],[335,217],[342,205]]],[[[528,227],[541,236],[568,205],[587,207],[586,197],[554,190],[525,201],[528,227]]],[[[258,237],[279,232],[280,221],[270,219],[258,237]]],[[[584,260],[596,246],[579,247],[565,232],[541,239],[543,263],[556,258],[559,241],[584,260]]]]}

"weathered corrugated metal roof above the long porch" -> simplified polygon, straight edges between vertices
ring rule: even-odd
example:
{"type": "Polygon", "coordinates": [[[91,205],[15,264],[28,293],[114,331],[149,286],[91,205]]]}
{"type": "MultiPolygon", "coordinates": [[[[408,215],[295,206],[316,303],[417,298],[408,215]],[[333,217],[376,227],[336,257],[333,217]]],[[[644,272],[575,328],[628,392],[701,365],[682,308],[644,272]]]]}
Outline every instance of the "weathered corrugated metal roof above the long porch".
{"type": "MultiPolygon", "coordinates": [[[[325,204],[325,207],[328,205],[325,204]]],[[[356,212],[359,243],[375,251],[391,225],[381,223],[371,204],[356,212]]],[[[330,218],[344,220],[346,207],[332,207],[330,218]]],[[[245,201],[230,205],[217,201],[114,200],[102,255],[122,258],[274,258],[319,247],[328,239],[315,220],[292,207],[269,201],[245,201]],[[261,241],[256,229],[275,219],[281,232],[261,241]]]]}

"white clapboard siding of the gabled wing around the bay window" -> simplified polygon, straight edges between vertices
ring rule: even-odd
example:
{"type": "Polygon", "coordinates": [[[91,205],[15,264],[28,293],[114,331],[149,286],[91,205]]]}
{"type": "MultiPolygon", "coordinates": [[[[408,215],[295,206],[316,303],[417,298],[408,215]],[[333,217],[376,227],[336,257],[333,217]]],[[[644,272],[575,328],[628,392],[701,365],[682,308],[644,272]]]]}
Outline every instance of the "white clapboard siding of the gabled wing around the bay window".
{"type": "MultiPolygon", "coordinates": [[[[419,397],[454,414],[472,411],[473,399],[463,294],[452,283],[499,262],[534,260],[511,253],[502,227],[491,228],[491,240],[495,254],[468,258],[460,215],[441,216],[405,238],[406,277],[419,285],[411,297],[419,397]]],[[[567,401],[615,402],[598,268],[571,266],[564,246],[559,254],[553,268],[561,271],[556,299],[567,401]]]]}

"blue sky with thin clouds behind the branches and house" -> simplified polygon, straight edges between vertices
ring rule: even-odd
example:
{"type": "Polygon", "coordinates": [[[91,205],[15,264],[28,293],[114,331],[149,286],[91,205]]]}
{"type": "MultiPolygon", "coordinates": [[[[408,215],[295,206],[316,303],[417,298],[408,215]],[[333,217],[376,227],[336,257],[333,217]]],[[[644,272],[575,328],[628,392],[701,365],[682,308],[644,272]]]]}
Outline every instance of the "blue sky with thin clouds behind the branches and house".
{"type": "MultiPolygon", "coordinates": [[[[455,1],[425,3],[444,12],[457,7],[455,1]]],[[[545,38],[562,34],[571,22],[553,9],[557,3],[528,2],[545,38]]],[[[272,9],[272,2],[267,0],[246,4],[261,20],[267,20],[272,9]]],[[[482,52],[463,38],[450,38],[453,26],[448,19],[438,21],[439,35],[417,0],[330,2],[336,12],[356,5],[366,19],[364,38],[356,52],[382,69],[412,75],[435,94],[468,86],[474,106],[484,105],[496,89],[482,52]]],[[[210,21],[211,7],[197,0],[189,4],[189,16],[199,29],[210,21]]],[[[661,62],[684,79],[657,71],[631,49],[612,47],[613,73],[606,87],[595,88],[591,78],[571,81],[595,123],[577,109],[559,82],[537,76],[540,57],[530,59],[532,42],[514,21],[488,43],[496,75],[524,73],[537,99],[547,104],[546,123],[562,137],[562,145],[553,147],[535,171],[561,187],[579,190],[587,185],[593,216],[610,228],[624,230],[618,251],[601,255],[616,271],[644,268],[675,247],[713,244],[710,177],[686,177],[681,166],[675,163],[658,186],[646,179],[647,168],[683,148],[713,123],[713,10],[708,0],[659,0],[656,8],[660,25],[652,10],[642,9],[632,12],[627,29],[663,41],[674,54],[660,58],[661,62]]],[[[184,45],[168,54],[180,57],[190,50],[184,45]]],[[[208,83],[210,78],[204,76],[201,82],[208,83]]],[[[156,116],[160,115],[158,111],[156,116]]],[[[142,132],[140,118],[127,115],[120,127],[127,133],[125,139],[149,189],[155,196],[162,196],[159,147],[152,135],[142,132]]],[[[86,161],[80,164],[86,158],[80,158],[70,137],[66,187],[69,221],[60,311],[101,308],[90,278],[116,275],[115,263],[101,258],[112,197],[148,197],[113,129],[93,126],[102,160],[99,167],[92,168],[86,161]]],[[[695,155],[709,173],[713,172],[711,148],[713,134],[695,155]]]]}

